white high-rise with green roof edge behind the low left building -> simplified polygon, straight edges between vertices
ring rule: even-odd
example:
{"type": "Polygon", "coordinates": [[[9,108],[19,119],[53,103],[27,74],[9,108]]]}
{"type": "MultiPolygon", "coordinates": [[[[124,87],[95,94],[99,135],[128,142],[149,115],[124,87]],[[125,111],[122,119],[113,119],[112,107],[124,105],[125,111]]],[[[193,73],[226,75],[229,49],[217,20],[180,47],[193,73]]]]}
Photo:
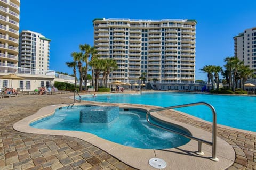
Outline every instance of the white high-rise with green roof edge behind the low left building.
{"type": "Polygon", "coordinates": [[[22,30],[19,37],[19,67],[49,70],[50,41],[40,33],[22,30]]]}

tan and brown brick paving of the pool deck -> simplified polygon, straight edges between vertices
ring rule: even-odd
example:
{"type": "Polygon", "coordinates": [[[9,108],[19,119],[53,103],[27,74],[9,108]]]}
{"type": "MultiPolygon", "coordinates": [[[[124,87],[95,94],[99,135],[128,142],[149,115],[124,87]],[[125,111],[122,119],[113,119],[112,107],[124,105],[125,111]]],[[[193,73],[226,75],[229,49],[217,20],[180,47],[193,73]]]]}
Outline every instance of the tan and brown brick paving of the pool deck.
{"type": "MultiPolygon", "coordinates": [[[[0,99],[0,169],[134,169],[107,152],[74,137],[22,133],[13,124],[38,109],[71,102],[71,94],[24,95],[0,99]]],[[[172,119],[211,132],[211,125],[185,115],[166,112],[172,119]]],[[[160,114],[162,114],[162,112],[160,114]]],[[[256,135],[218,127],[218,136],[235,150],[228,169],[256,170],[256,135]]]]}

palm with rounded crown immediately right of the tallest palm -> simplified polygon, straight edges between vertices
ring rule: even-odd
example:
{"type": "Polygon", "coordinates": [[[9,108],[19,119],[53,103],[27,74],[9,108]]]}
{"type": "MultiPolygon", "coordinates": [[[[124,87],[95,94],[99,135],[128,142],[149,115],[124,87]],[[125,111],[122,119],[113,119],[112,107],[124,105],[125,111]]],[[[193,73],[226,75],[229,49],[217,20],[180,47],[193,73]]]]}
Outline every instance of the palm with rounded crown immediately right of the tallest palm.
{"type": "Polygon", "coordinates": [[[94,72],[95,72],[94,88],[95,88],[95,91],[98,91],[98,79],[100,76],[100,72],[102,71],[103,60],[99,60],[98,57],[94,57],[88,64],[94,68],[94,72]]]}

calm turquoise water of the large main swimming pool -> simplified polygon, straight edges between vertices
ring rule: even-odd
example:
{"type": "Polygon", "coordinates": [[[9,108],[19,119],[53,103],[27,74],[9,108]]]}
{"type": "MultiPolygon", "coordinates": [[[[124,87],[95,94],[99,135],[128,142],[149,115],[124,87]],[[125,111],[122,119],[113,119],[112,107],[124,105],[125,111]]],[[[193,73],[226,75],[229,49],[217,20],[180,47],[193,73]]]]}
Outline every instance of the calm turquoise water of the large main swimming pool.
{"type": "MultiPolygon", "coordinates": [[[[142,94],[108,94],[93,98],[90,95],[82,96],[82,100],[110,103],[145,104],[169,107],[181,104],[204,101],[211,104],[217,112],[217,123],[256,132],[256,97],[211,95],[178,92],[156,92],[142,94]],[[107,98],[108,96],[108,98],[107,98]]],[[[180,108],[179,111],[212,122],[212,112],[207,106],[193,106],[180,108]]]]}

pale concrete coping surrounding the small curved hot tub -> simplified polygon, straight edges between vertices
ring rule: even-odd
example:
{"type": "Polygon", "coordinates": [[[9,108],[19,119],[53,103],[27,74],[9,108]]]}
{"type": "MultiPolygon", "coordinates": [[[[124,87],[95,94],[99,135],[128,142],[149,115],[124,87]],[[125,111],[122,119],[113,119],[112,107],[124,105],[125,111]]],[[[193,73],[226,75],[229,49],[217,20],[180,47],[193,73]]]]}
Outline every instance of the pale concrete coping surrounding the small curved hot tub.
{"type": "MultiPolygon", "coordinates": [[[[89,104],[89,102],[81,103],[89,104]]],[[[92,105],[108,105],[108,106],[119,106],[122,108],[140,108],[140,109],[151,109],[156,108],[153,106],[148,106],[145,108],[145,105],[131,105],[131,104],[95,104],[92,105]]],[[[219,162],[213,162],[209,157],[211,157],[211,147],[203,145],[202,150],[205,152],[205,156],[199,156],[195,154],[197,151],[197,142],[190,141],[186,145],[181,147],[164,149],[164,150],[153,150],[153,149],[138,149],[131,148],[123,145],[119,145],[114,142],[107,141],[105,139],[99,138],[93,134],[86,132],[75,132],[74,131],[60,131],[60,130],[44,130],[36,129],[29,126],[29,124],[39,118],[46,117],[55,112],[56,108],[62,105],[52,105],[41,108],[37,113],[24,118],[23,120],[15,123],[13,128],[17,131],[26,132],[26,133],[38,133],[38,134],[49,134],[49,135],[66,135],[71,137],[76,137],[82,140],[85,140],[92,145],[108,152],[110,155],[116,157],[122,162],[138,169],[154,169],[148,164],[150,158],[158,157],[164,159],[167,163],[167,167],[172,167],[173,169],[186,169],[186,167],[192,167],[195,169],[226,169],[233,164],[235,159],[235,153],[233,148],[228,145],[228,143],[220,138],[217,138],[217,157],[220,159],[219,162]],[[186,162],[184,160],[186,159],[186,162]]],[[[161,117],[162,118],[162,117],[161,117]]],[[[165,117],[163,117],[165,118],[165,117]]],[[[211,133],[206,132],[202,129],[195,128],[191,125],[186,125],[181,122],[173,121],[167,119],[174,124],[178,124],[188,129],[193,135],[201,135],[204,139],[211,139],[211,133]]]]}

